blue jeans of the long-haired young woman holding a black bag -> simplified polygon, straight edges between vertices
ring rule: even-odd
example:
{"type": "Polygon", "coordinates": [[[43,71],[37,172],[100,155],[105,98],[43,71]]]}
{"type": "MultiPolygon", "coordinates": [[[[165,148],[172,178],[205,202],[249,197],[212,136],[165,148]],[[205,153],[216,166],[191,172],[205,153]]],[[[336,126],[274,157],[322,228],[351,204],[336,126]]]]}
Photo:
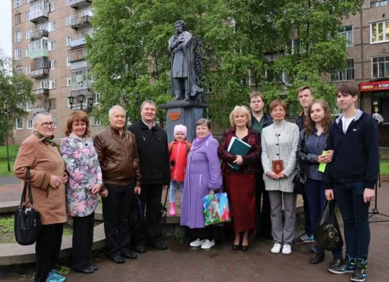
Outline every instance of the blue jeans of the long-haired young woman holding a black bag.
{"type": "MultiPolygon", "coordinates": [[[[310,213],[310,226],[313,231],[316,230],[317,225],[320,222],[320,218],[323,213],[325,204],[325,184],[321,180],[307,179],[305,184],[305,193],[308,199],[309,213],[310,213]]],[[[316,238],[315,238],[316,239],[316,238]]],[[[324,249],[318,249],[318,252],[324,252],[324,249]]],[[[334,249],[332,251],[334,257],[342,256],[342,249],[334,249]]]]}

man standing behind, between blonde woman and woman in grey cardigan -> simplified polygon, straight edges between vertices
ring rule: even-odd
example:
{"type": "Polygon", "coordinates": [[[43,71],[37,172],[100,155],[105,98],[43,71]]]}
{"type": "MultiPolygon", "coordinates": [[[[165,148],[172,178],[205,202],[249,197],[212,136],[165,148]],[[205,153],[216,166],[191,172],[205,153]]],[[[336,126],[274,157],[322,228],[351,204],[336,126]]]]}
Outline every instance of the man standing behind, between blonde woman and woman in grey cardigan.
{"type": "MultiPolygon", "coordinates": [[[[249,98],[251,109],[251,128],[262,133],[262,129],[273,123],[273,118],[265,114],[265,100],[261,93],[252,92],[249,98]]],[[[260,140],[260,137],[259,137],[260,140]]],[[[269,194],[265,190],[262,178],[263,169],[259,166],[256,176],[256,205],[257,205],[257,237],[272,239],[272,222],[270,220],[269,194]],[[261,199],[262,198],[262,199],[261,199]],[[262,202],[262,207],[261,207],[262,202]]]]}

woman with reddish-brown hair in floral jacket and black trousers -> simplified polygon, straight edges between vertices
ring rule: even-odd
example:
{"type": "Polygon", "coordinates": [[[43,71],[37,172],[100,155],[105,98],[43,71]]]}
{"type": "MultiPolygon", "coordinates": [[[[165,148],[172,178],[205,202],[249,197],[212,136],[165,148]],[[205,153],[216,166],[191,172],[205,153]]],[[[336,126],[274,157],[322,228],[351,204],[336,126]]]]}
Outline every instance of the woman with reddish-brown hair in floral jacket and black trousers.
{"type": "MultiPolygon", "coordinates": [[[[102,184],[101,169],[85,112],[73,111],[66,120],[61,155],[69,182],[66,187],[66,211],[73,217],[73,269],[93,273],[98,269],[90,263],[95,210],[102,184]]],[[[101,192],[106,197],[107,190],[101,192]]]]}

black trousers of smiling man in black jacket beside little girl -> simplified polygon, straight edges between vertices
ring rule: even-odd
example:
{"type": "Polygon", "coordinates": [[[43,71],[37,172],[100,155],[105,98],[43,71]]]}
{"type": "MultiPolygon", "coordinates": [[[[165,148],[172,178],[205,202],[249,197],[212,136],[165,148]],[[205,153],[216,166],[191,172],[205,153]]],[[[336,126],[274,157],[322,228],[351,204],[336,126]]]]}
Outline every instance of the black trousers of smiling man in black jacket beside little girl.
{"type": "Polygon", "coordinates": [[[161,232],[162,184],[143,184],[140,199],[146,217],[145,222],[135,230],[135,242],[155,240],[161,232]]]}

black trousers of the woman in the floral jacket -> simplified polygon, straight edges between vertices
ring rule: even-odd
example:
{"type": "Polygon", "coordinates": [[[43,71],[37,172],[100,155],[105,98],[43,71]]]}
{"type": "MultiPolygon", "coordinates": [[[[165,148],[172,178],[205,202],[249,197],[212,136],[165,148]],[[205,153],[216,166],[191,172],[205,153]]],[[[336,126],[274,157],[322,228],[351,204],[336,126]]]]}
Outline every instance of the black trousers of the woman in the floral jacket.
{"type": "Polygon", "coordinates": [[[89,216],[73,216],[73,268],[89,266],[92,256],[95,213],[89,216]]]}

